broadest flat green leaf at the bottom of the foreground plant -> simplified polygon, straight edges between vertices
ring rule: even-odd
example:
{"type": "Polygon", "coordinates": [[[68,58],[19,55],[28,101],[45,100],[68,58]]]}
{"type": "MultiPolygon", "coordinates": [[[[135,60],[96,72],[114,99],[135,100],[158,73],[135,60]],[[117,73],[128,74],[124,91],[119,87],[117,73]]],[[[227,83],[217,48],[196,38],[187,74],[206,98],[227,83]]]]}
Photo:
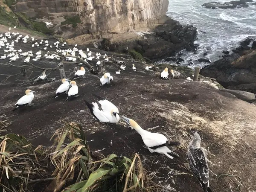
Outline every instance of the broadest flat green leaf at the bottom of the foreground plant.
{"type": "Polygon", "coordinates": [[[89,187],[92,186],[98,179],[108,174],[110,169],[99,168],[95,172],[92,172],[86,182],[86,184],[81,189],[81,192],[89,192],[89,187]]]}

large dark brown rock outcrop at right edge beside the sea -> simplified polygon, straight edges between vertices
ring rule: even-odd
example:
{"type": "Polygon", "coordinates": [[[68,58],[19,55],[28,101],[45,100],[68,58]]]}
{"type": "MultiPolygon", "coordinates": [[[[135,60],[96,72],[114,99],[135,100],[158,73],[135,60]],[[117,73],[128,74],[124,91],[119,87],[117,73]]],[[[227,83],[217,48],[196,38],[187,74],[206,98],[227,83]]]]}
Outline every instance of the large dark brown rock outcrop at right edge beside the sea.
{"type": "Polygon", "coordinates": [[[233,54],[201,70],[201,75],[216,78],[225,88],[256,93],[256,50],[233,54]]]}

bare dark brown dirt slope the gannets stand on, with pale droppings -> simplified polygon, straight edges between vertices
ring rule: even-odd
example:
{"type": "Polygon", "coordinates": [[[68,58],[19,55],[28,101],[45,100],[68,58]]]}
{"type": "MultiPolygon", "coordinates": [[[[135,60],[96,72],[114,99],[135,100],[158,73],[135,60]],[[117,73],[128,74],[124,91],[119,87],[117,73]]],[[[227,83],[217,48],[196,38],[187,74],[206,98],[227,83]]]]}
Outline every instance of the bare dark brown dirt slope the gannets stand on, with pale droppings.
{"type": "MultiPolygon", "coordinates": [[[[31,49],[29,44],[19,46],[24,50],[31,49]]],[[[96,51],[92,50],[93,53],[96,51]]],[[[107,54],[112,55],[111,52],[107,54]]],[[[3,49],[0,49],[0,55],[3,55],[3,49]]],[[[127,61],[125,58],[115,58],[127,61]]],[[[42,59],[33,64],[55,67],[58,62],[50,63],[42,59]]],[[[12,64],[22,62],[19,60],[12,64]]],[[[77,64],[65,64],[67,75],[78,67],[77,64]]],[[[61,84],[57,70],[49,75],[49,78],[56,77],[55,82],[35,85],[17,86],[19,81],[15,78],[22,76],[14,76],[9,81],[4,81],[6,76],[0,76],[0,114],[14,121],[7,131],[23,134],[34,145],[47,146],[55,130],[64,124],[61,120],[79,122],[84,127],[91,150],[127,157],[138,153],[151,177],[164,186],[163,191],[200,192],[198,181],[183,164],[187,163],[186,151],[193,132],[198,131],[203,147],[208,150],[212,189],[215,192],[256,192],[256,106],[205,82],[181,79],[163,81],[155,78],[153,71],[145,72],[144,63],[136,62],[135,66],[137,72],[133,72],[128,63],[126,70],[116,75],[119,66],[109,62],[106,70],[113,76],[113,81],[105,87],[99,87],[102,75],[92,75],[87,71],[84,78],[76,80],[79,97],[70,102],[65,102],[66,97],[53,97],[61,84]],[[12,112],[15,102],[27,88],[36,91],[34,105],[12,112]],[[173,149],[180,154],[180,159],[170,160],[164,155],[151,154],[142,147],[140,135],[122,121],[116,125],[96,122],[83,101],[93,102],[96,98],[92,94],[112,101],[119,108],[119,114],[134,119],[142,128],[163,133],[171,141],[179,141],[181,146],[173,149]],[[220,177],[217,180],[221,174],[238,177],[220,177]]],[[[6,65],[0,65],[0,69],[2,74],[15,74],[20,70],[6,65]]],[[[35,70],[32,76],[40,73],[40,70],[35,70]]]]}

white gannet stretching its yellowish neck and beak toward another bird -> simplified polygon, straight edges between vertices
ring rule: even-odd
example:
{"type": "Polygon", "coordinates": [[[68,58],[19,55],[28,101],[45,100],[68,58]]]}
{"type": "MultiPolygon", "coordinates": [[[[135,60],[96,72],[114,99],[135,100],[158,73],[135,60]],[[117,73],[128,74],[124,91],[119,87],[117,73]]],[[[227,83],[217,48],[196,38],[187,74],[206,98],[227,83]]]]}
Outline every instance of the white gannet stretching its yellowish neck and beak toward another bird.
{"type": "Polygon", "coordinates": [[[171,151],[169,148],[169,144],[173,143],[171,145],[179,145],[178,142],[169,143],[169,141],[163,134],[151,133],[141,128],[140,125],[138,125],[137,122],[135,122],[133,119],[129,119],[125,116],[120,116],[120,117],[128,125],[131,126],[131,129],[135,129],[140,134],[144,144],[147,146],[148,150],[151,153],[156,152],[160,154],[165,154],[170,159],[173,159],[174,157],[179,157],[178,154],[171,151]]]}

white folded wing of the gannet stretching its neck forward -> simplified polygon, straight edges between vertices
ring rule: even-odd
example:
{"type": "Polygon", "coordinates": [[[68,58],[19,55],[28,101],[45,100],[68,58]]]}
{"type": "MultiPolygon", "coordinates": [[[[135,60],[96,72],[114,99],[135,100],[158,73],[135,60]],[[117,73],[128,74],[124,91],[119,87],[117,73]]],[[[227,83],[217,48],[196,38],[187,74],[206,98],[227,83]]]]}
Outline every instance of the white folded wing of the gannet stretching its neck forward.
{"type": "Polygon", "coordinates": [[[142,139],[144,144],[147,145],[149,148],[158,148],[161,147],[160,145],[166,144],[166,142],[168,142],[167,138],[164,135],[150,132],[148,132],[148,134],[146,135],[143,135],[142,139]]]}

